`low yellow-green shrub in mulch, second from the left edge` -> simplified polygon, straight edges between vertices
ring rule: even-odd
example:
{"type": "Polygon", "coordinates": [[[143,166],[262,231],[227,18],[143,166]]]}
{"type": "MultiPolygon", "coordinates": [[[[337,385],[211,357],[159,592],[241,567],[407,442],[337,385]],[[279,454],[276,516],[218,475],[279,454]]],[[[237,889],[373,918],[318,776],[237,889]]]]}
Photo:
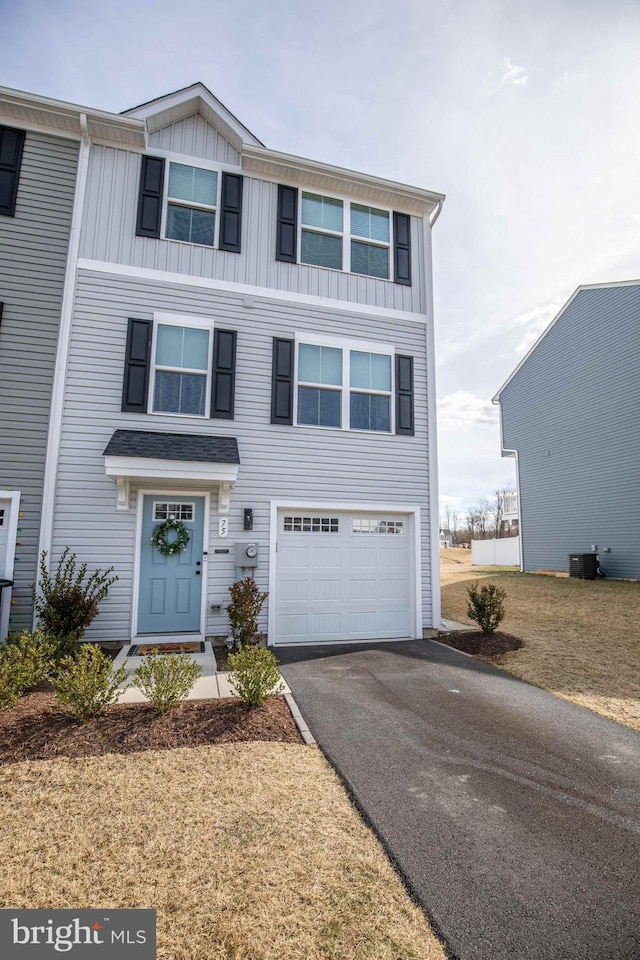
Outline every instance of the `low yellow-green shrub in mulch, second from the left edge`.
{"type": "Polygon", "coordinates": [[[124,667],[114,670],[111,657],[99,647],[84,643],[75,656],[60,661],[51,682],[60,703],[74,716],[87,720],[116,702],[118,687],[126,679],[124,667]]]}

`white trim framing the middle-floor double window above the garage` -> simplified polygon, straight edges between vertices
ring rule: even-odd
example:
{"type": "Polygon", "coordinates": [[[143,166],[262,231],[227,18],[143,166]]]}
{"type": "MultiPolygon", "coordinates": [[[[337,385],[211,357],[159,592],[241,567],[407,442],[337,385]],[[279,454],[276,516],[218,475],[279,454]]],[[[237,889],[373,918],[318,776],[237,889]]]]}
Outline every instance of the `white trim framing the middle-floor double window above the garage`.
{"type": "MultiPolygon", "coordinates": [[[[321,334],[314,333],[298,333],[294,334],[294,357],[293,357],[293,426],[294,427],[306,427],[310,430],[340,430],[347,431],[348,433],[360,433],[365,436],[381,436],[381,437],[391,437],[394,436],[395,422],[396,422],[396,405],[395,405],[395,355],[396,348],[393,344],[388,343],[373,343],[369,340],[351,340],[349,338],[342,337],[326,337],[321,334]],[[313,424],[313,423],[299,423],[298,422],[298,352],[301,344],[308,344],[311,347],[333,347],[334,349],[342,351],[342,384],[340,387],[336,385],[327,385],[326,389],[328,390],[340,390],[340,426],[339,427],[329,427],[323,426],[322,424],[313,424]],[[389,357],[390,366],[391,366],[391,388],[389,391],[386,390],[364,390],[361,388],[351,388],[351,352],[355,351],[357,353],[376,353],[382,356],[389,357]],[[351,426],[351,394],[352,393],[363,393],[366,395],[372,396],[382,396],[389,397],[389,429],[388,430],[365,430],[362,427],[352,427],[351,426]]],[[[304,381],[302,386],[308,386],[309,383],[304,381]]],[[[316,387],[324,389],[322,384],[315,384],[316,387]]]]}

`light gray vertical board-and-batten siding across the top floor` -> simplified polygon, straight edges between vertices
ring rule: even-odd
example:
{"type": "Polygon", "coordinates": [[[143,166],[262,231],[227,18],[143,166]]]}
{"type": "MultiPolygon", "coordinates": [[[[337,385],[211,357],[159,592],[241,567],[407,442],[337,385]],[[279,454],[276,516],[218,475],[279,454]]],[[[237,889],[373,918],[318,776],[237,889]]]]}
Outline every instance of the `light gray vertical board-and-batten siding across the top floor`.
{"type": "MultiPolygon", "coordinates": [[[[174,125],[175,126],[175,125],[174,125]]],[[[189,156],[185,155],[185,163],[189,156]]],[[[347,303],[426,313],[423,221],[411,217],[412,286],[276,260],[278,186],[244,177],[242,252],[136,236],[140,154],[94,145],[80,256],[187,276],[250,284],[347,303]]]]}

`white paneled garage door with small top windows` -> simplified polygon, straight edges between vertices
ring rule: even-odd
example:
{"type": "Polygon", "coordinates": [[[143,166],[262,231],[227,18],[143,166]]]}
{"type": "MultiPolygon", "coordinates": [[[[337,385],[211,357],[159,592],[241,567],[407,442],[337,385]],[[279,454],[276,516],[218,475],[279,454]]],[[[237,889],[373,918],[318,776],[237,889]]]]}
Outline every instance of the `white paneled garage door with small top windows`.
{"type": "Polygon", "coordinates": [[[276,643],[413,636],[409,514],[278,513],[276,643]]]}

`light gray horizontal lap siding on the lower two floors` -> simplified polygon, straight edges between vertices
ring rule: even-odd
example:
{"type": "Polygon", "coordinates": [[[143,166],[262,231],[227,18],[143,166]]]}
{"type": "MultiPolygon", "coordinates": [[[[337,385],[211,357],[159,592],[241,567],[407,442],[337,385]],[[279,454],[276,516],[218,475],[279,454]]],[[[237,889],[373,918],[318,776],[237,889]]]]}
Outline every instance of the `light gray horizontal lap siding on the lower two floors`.
{"type": "MultiPolygon", "coordinates": [[[[60,447],[53,551],[71,543],[89,567],[116,569],[118,582],[104,601],[88,639],[127,640],[130,631],[134,574],[135,504],[116,510],[116,488],[105,476],[103,450],[116,429],[170,431],[231,436],[238,440],[240,468],[231,490],[229,537],[218,539],[217,499],[212,497],[207,596],[208,635],[227,632],[224,607],[234,580],[233,554],[216,556],[214,547],[236,540],[260,544],[256,579],[268,586],[270,501],[341,501],[406,504],[422,508],[424,623],[431,623],[428,450],[425,328],[397,321],[393,337],[388,319],[328,308],[308,308],[276,299],[243,297],[227,291],[202,290],[179,284],[79,274],[71,359],[60,447]],[[246,303],[246,298],[245,303],[246,303]],[[120,411],[128,317],[153,317],[154,311],[212,318],[238,331],[234,420],[200,420],[164,415],[131,415],[120,411]],[[415,437],[371,435],[334,429],[279,426],[270,423],[272,338],[308,331],[327,336],[388,344],[415,358],[415,437]],[[242,508],[253,507],[254,528],[242,530],[242,508]],[[222,605],[212,613],[210,605],[222,605]]],[[[160,483],[162,489],[187,489],[160,483]]],[[[266,608],[263,617],[266,630],[266,608]]]]}

